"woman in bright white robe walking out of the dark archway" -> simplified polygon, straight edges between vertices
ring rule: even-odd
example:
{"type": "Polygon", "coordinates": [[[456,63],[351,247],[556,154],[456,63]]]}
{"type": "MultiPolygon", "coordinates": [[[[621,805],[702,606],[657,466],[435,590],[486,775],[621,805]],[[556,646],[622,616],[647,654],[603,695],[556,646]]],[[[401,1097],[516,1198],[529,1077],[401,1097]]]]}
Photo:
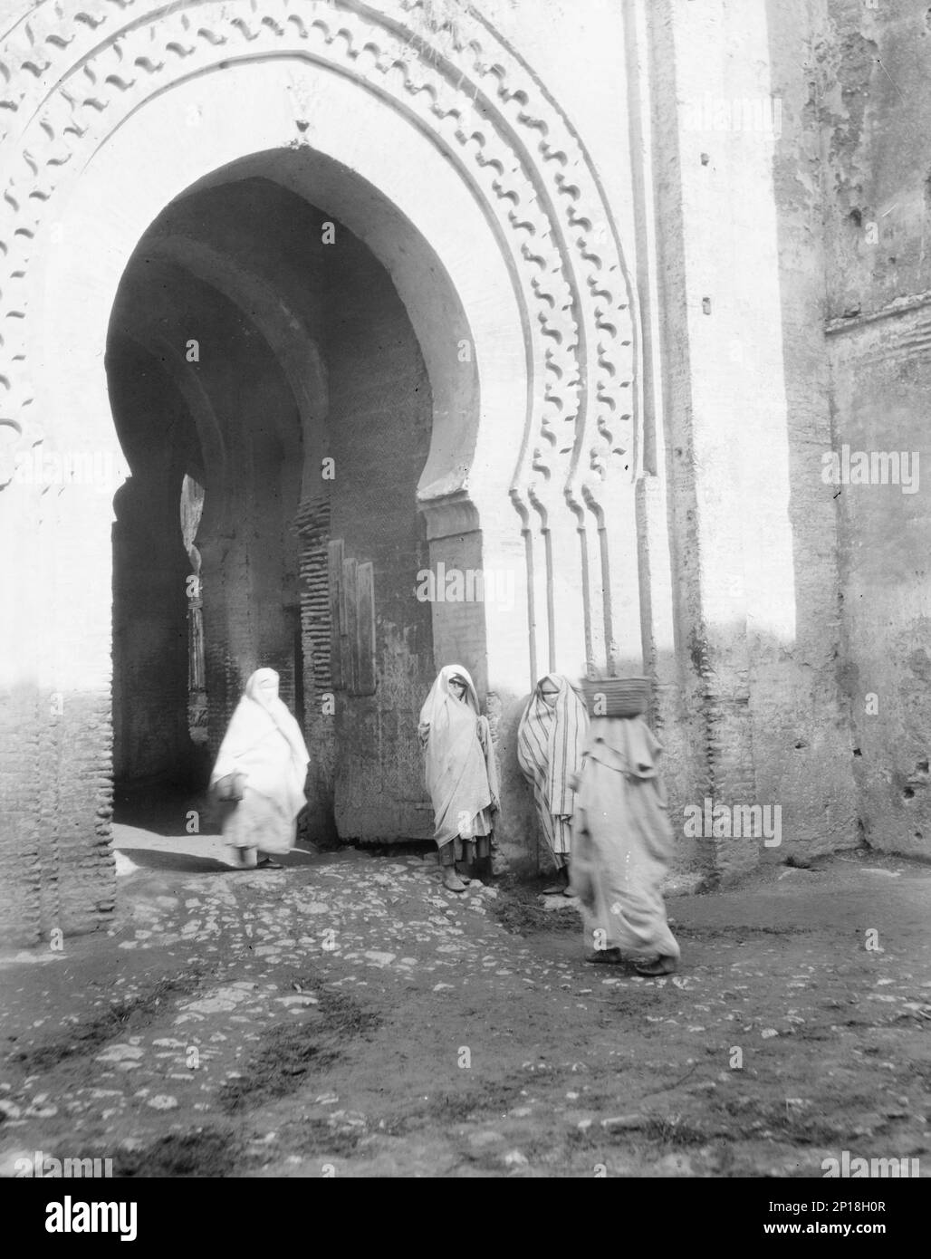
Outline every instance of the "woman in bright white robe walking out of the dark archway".
{"type": "Polygon", "coordinates": [[[301,728],[278,699],[278,675],[258,669],[245,684],[210,774],[218,798],[239,801],[223,823],[237,869],[282,869],[269,854],[294,847],[308,760],[301,728]]]}

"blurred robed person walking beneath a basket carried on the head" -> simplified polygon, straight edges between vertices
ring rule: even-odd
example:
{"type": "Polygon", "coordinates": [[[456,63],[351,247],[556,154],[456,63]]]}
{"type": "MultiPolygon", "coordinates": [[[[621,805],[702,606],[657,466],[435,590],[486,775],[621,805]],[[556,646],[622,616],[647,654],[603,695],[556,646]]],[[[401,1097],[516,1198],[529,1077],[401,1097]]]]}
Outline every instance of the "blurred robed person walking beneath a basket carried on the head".
{"type": "Polygon", "coordinates": [[[659,890],[673,846],[661,752],[643,718],[593,716],[572,823],[572,890],[594,946],[586,961],[619,962],[624,949],[649,976],[679,959],[659,890]]]}

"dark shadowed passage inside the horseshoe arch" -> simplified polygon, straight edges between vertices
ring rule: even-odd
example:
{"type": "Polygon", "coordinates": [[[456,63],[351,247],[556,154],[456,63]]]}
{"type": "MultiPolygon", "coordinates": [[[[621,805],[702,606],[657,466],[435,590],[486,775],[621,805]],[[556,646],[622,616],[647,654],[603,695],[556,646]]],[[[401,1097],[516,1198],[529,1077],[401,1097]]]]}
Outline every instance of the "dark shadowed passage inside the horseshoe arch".
{"type": "Polygon", "coordinates": [[[140,242],[107,371],[132,470],[113,530],[122,816],[203,791],[245,679],[267,665],[311,749],[306,833],[428,835],[415,730],[432,622],[414,585],[433,404],[387,272],[273,179],[211,176],[140,242]],[[185,476],[204,488],[199,573],[185,476]],[[191,724],[195,604],[205,739],[191,724]]]}

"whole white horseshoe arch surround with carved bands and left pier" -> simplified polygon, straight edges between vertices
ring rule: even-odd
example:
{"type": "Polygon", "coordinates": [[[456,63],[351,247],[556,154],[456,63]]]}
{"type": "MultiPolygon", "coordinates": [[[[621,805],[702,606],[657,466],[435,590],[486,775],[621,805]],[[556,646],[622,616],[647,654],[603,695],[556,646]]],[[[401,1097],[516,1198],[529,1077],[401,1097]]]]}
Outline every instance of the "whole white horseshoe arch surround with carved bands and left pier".
{"type": "MultiPolygon", "coordinates": [[[[570,123],[482,18],[458,8],[437,30],[430,9],[89,0],[14,26],[0,424],[14,452],[116,460],[103,346],[133,249],[185,190],[254,155],[289,155],[276,178],[371,249],[419,341],[432,565],[515,574],[516,607],[433,607],[437,660],[474,669],[505,729],[544,666],[643,662],[637,330],[570,123]]],[[[18,750],[18,807],[26,865],[31,854],[43,874],[42,886],[20,879],[19,918],[74,930],[112,905],[112,506],[74,485],[30,490],[0,495],[35,526],[42,578],[24,594],[42,628],[13,719],[34,734],[18,750]],[[60,623],[54,609],[74,592],[81,617],[60,623]],[[49,719],[53,691],[65,703],[49,719]],[[72,859],[52,903],[47,874],[72,859]]]]}

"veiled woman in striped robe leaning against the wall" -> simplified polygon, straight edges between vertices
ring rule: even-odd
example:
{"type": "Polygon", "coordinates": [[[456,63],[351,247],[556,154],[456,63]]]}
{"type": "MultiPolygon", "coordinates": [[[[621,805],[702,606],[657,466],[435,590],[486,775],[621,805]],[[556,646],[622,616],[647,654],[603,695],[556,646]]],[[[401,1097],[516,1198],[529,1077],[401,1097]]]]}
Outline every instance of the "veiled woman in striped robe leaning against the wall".
{"type": "Polygon", "coordinates": [[[571,782],[581,765],[589,718],[569,679],[559,674],[541,677],[527,700],[517,729],[517,759],[533,787],[533,801],[544,838],[556,866],[556,881],[545,894],[571,896],[571,782]]]}

